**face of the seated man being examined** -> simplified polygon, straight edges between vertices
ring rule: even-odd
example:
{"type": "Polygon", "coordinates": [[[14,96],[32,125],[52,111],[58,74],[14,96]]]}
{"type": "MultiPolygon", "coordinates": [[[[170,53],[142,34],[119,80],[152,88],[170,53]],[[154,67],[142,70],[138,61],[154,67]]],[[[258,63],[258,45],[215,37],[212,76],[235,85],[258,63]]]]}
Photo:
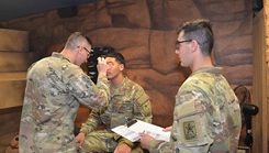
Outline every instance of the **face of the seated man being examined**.
{"type": "Polygon", "coordinates": [[[109,79],[114,79],[122,74],[122,70],[124,68],[123,64],[116,62],[113,57],[107,57],[105,59],[108,64],[107,76],[109,79]]]}

